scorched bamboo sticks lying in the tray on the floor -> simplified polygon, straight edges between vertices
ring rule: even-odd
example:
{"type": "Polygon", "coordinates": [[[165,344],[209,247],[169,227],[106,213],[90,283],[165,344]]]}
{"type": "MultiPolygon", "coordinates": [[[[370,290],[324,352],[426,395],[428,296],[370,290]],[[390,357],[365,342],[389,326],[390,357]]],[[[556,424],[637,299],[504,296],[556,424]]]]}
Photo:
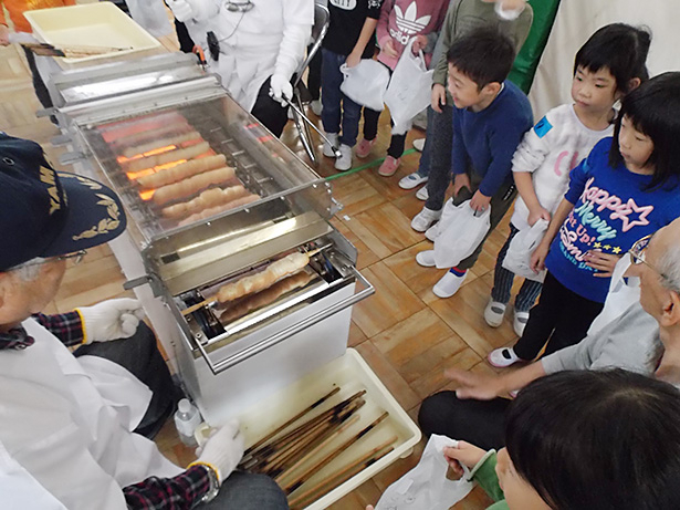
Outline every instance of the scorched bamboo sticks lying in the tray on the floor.
{"type": "Polygon", "coordinates": [[[397,436],[388,438],[358,459],[342,466],[331,477],[315,486],[307,487],[308,483],[305,485],[316,472],[329,465],[336,457],[359,441],[388,417],[388,413],[383,413],[369,425],[338,444],[336,439],[359,420],[357,412],[366,404],[363,398],[366,391],[360,391],[317,416],[302,421],[306,415],[322,406],[338,392],[338,387],[334,388],[261,438],[243,455],[239,467],[274,478],[284,492],[289,495],[291,509],[306,507],[394,449],[391,445],[397,440],[397,436]]]}

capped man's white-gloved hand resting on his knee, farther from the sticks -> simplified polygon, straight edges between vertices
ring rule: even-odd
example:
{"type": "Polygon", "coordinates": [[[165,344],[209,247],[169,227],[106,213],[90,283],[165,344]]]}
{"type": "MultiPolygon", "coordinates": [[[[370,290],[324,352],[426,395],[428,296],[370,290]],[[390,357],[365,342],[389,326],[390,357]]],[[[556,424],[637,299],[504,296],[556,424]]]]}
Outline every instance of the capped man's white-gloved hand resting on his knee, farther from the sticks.
{"type": "Polygon", "coordinates": [[[128,339],[144,318],[139,301],[123,298],[76,309],[83,319],[85,344],[128,339]]]}

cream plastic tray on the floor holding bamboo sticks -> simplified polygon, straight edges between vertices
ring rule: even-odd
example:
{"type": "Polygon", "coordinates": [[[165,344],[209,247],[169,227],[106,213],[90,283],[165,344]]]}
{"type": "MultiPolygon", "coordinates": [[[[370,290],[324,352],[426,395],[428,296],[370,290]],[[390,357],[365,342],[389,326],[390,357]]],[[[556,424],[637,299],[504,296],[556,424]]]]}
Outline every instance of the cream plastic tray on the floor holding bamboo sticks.
{"type": "MultiPolygon", "coordinates": [[[[262,375],[264,376],[264,374],[262,375]]],[[[245,435],[245,445],[249,446],[254,444],[260,437],[263,437],[269,431],[276,428],[276,426],[308,407],[318,398],[331,392],[335,386],[341,387],[339,393],[336,394],[332,400],[324,403],[323,406],[320,406],[318,409],[315,409],[314,413],[311,413],[303,419],[306,420],[321,414],[360,389],[366,389],[366,395],[364,397],[366,399],[366,405],[358,410],[360,416],[359,423],[336,438],[328,448],[332,449],[334,445],[337,446],[352,437],[359,429],[376,419],[384,410],[389,413],[389,417],[355,445],[347,448],[328,466],[321,469],[313,478],[310,478],[301,489],[302,491],[305,490],[305,487],[312,487],[316,485],[316,482],[331,477],[332,473],[337,472],[341,467],[358,459],[363,454],[372,450],[380,443],[387,440],[390,436],[397,436],[398,439],[393,445],[395,448],[393,451],[358,472],[323,498],[306,507],[306,510],[322,510],[327,508],[398,458],[409,455],[412,447],[421,437],[418,426],[410,419],[401,406],[399,406],[397,400],[395,400],[362,356],[354,348],[348,348],[343,356],[273,394],[239,416],[241,420],[241,430],[245,435]]]]}

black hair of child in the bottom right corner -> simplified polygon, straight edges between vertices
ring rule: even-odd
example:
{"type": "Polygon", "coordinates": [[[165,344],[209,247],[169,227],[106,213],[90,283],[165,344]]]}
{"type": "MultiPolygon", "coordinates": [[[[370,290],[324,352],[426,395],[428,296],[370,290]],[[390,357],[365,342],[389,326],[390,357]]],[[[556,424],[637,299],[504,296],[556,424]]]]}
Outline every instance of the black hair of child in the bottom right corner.
{"type": "Polygon", "coordinates": [[[680,392],[623,370],[561,372],[505,421],[516,472],[555,510],[680,508],[680,392]]]}

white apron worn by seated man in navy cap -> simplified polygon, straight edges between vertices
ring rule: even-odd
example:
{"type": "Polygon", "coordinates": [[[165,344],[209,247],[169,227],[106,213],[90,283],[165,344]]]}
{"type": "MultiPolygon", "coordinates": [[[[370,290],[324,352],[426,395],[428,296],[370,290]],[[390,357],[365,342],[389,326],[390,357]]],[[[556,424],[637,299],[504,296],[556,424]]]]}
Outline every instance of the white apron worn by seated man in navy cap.
{"type": "MultiPolygon", "coordinates": [[[[85,372],[34,320],[22,325],[35,344],[0,352],[0,443],[38,483],[70,510],[125,509],[123,487],[181,472],[153,441],[129,431],[138,406],[116,395],[115,368],[103,396],[95,381],[106,377],[85,372]]],[[[87,357],[90,367],[111,364],[87,357]]]]}

